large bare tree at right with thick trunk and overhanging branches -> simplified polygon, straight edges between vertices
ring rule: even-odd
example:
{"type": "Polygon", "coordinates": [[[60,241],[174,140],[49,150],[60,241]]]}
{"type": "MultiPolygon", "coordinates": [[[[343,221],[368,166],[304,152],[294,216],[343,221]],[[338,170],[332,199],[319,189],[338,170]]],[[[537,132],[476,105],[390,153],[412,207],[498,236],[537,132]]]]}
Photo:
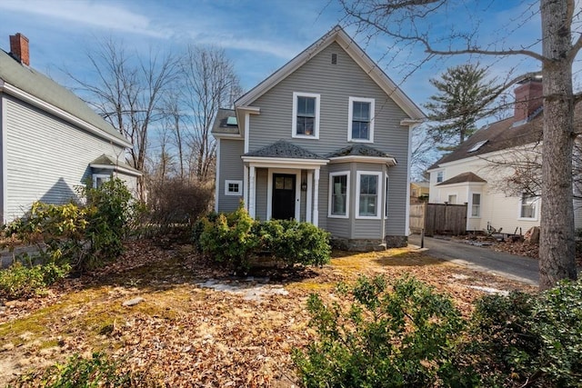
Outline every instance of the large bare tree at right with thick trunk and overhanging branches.
{"type": "MultiPolygon", "coordinates": [[[[541,36],[511,47],[493,34],[493,41],[479,40],[476,18],[466,24],[447,15],[457,12],[456,6],[479,1],[450,0],[340,0],[348,21],[361,30],[387,35],[397,44],[420,45],[426,55],[522,55],[541,64],[544,92],[544,134],[542,163],[542,199],[540,234],[540,287],[548,288],[565,278],[576,279],[574,205],[572,185],[572,149],[577,132],[574,128],[572,63],[582,47],[579,11],[575,0],[541,0],[525,5],[525,11],[507,26],[511,35],[537,15],[541,16],[541,36]],[[539,7],[537,7],[539,6],[539,7]],[[428,23],[431,16],[439,21],[450,20],[448,30],[438,32],[428,23]],[[444,16],[444,17],[443,17],[444,16]],[[475,23],[471,23],[475,22],[475,23]],[[463,28],[469,29],[464,30],[463,28]],[[448,32],[447,32],[448,31],[448,32]],[[576,39],[573,40],[573,33],[576,39]],[[541,42],[541,53],[535,51],[541,42]]],[[[487,9],[487,6],[484,8],[487,9]]]]}

